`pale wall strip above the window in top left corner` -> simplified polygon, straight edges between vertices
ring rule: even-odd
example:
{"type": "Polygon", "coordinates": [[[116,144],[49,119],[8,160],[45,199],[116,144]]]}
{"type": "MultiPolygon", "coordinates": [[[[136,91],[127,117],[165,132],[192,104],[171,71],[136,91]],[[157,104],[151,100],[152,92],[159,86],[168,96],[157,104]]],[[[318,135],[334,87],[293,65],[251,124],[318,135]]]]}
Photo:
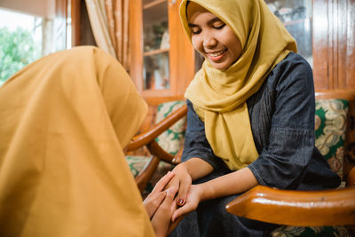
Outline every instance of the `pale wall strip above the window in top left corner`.
{"type": "Polygon", "coordinates": [[[53,19],[55,0],[0,0],[0,7],[15,12],[53,19]]]}

